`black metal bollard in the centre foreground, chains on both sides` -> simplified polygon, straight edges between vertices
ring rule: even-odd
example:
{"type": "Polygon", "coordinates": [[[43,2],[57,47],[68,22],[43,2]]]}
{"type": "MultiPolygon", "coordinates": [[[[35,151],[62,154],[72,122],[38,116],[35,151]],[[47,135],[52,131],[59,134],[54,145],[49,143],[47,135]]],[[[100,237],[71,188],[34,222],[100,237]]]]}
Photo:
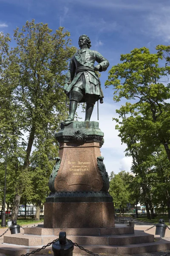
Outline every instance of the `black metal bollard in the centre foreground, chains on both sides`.
{"type": "Polygon", "coordinates": [[[52,244],[54,256],[73,256],[74,244],[66,241],[66,233],[59,232],[59,241],[52,244]]]}

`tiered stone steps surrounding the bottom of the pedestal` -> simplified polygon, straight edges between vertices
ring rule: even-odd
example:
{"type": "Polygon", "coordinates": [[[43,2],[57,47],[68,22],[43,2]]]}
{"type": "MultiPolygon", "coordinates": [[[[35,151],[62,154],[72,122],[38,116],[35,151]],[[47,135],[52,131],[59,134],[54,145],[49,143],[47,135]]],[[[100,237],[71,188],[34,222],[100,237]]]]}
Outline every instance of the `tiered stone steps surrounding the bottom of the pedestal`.
{"type": "MultiPolygon", "coordinates": [[[[133,227],[117,225],[114,228],[43,228],[27,227],[25,234],[4,236],[0,244],[0,253],[11,256],[31,253],[59,237],[59,232],[65,231],[67,238],[74,243],[94,253],[112,253],[117,255],[145,253],[170,249],[170,241],[156,238],[154,235],[135,230],[133,227]],[[89,236],[90,234],[90,236],[89,236]],[[94,235],[95,234],[95,235],[94,235]]],[[[36,254],[53,253],[51,246],[36,254]]],[[[79,247],[74,247],[74,253],[85,253],[79,247]]],[[[88,255],[88,254],[87,254],[88,255]]]]}

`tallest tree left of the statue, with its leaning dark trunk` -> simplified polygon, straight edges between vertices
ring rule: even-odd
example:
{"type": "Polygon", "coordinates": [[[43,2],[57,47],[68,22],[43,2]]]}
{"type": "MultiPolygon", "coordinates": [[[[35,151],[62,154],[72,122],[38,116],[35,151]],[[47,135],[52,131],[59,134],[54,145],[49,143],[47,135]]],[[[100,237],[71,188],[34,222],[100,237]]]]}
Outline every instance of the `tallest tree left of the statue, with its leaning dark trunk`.
{"type": "Polygon", "coordinates": [[[38,147],[46,134],[52,136],[65,116],[64,71],[75,47],[70,47],[70,33],[63,29],[59,27],[52,33],[48,24],[27,21],[21,32],[19,28],[14,30],[16,47],[13,48],[9,35],[0,34],[0,82],[1,90],[5,90],[0,102],[3,120],[0,131],[7,131],[8,140],[15,147],[12,219],[17,218],[25,182],[30,184],[26,195],[33,186],[30,173],[33,145],[38,147]],[[8,120],[5,113],[9,113],[8,120]],[[27,134],[27,140],[23,140],[23,133],[27,134]]]}

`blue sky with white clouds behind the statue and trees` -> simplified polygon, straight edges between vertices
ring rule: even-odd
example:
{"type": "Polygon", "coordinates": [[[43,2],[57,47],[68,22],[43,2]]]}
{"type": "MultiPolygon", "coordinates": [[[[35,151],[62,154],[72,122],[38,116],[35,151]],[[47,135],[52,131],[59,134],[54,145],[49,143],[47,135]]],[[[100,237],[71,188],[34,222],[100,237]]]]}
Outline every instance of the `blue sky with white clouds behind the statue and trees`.
{"type": "MultiPolygon", "coordinates": [[[[154,52],[156,45],[170,44],[169,14],[169,0],[0,0],[0,31],[12,35],[17,26],[35,19],[53,30],[65,27],[76,47],[79,36],[86,34],[91,49],[108,58],[110,70],[119,63],[120,54],[144,46],[154,52]]],[[[131,159],[125,157],[125,145],[112,121],[124,101],[113,102],[112,87],[105,89],[108,70],[101,76],[105,95],[104,104],[99,105],[99,126],[105,134],[101,152],[108,173],[130,172],[131,159]]],[[[96,108],[91,120],[97,121],[96,108]]]]}

